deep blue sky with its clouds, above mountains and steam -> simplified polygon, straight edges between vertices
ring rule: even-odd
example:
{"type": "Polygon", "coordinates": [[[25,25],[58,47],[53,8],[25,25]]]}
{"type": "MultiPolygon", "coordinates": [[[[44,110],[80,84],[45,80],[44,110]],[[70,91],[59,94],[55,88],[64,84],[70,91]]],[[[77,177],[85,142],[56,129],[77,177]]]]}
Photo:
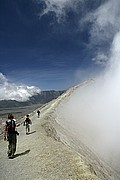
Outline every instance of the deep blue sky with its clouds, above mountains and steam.
{"type": "Polygon", "coordinates": [[[118,4],[118,0],[0,0],[0,99],[23,101],[21,92],[27,89],[29,98],[102,74],[119,31],[118,4]]]}

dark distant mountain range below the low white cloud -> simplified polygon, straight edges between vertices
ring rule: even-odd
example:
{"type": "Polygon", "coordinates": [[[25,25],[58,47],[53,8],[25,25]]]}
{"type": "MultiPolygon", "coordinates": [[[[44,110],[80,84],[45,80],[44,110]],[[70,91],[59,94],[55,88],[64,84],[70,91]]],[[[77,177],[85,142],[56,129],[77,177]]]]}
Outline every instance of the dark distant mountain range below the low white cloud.
{"type": "Polygon", "coordinates": [[[22,107],[33,104],[45,104],[53,99],[56,99],[65,91],[42,91],[40,94],[34,95],[28,101],[19,102],[16,100],[2,100],[0,101],[0,108],[22,107]]]}

